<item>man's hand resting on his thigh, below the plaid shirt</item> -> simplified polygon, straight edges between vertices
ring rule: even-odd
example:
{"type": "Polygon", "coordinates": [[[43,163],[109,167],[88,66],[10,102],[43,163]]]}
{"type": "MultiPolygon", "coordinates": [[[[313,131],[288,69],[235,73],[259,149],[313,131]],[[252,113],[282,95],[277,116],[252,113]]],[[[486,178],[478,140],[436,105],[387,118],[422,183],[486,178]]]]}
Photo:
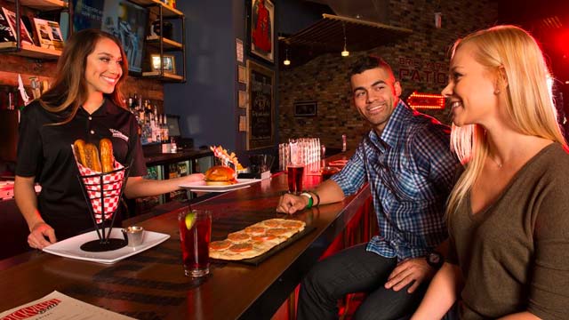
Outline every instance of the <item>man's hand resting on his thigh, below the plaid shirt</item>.
{"type": "Polygon", "coordinates": [[[388,282],[385,283],[385,288],[393,288],[393,290],[399,291],[414,281],[413,285],[407,290],[408,293],[413,293],[421,282],[432,278],[435,276],[435,273],[437,273],[437,270],[430,267],[427,260],[423,257],[403,260],[391,271],[388,282]]]}

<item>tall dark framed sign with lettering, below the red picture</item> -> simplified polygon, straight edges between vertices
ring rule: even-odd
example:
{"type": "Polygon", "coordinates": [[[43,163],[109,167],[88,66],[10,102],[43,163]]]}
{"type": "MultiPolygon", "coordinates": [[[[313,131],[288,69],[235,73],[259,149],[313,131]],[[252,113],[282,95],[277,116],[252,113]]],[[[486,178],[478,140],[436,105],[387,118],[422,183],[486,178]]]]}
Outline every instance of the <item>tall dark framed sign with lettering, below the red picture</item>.
{"type": "Polygon", "coordinates": [[[272,147],[274,144],[273,116],[275,110],[272,70],[247,61],[249,71],[249,127],[247,149],[272,147]]]}

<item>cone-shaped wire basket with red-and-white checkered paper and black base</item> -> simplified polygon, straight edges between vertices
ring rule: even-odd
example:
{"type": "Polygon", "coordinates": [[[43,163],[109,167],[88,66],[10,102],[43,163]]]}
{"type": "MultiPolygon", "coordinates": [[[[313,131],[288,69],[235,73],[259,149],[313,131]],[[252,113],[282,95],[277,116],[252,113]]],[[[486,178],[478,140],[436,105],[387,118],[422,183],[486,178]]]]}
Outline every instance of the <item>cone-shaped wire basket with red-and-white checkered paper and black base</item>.
{"type": "Polygon", "coordinates": [[[92,218],[99,239],[82,244],[81,250],[86,252],[106,252],[120,249],[126,245],[126,241],[124,239],[111,238],[110,233],[113,229],[115,213],[128,179],[129,167],[125,166],[112,172],[93,174],[84,174],[84,172],[91,170],[82,167],[79,167],[79,172],[83,174],[78,174],[77,179],[79,179],[81,184],[85,201],[89,208],[89,215],[92,218]],[[86,171],[82,169],[86,169],[86,171]]]}

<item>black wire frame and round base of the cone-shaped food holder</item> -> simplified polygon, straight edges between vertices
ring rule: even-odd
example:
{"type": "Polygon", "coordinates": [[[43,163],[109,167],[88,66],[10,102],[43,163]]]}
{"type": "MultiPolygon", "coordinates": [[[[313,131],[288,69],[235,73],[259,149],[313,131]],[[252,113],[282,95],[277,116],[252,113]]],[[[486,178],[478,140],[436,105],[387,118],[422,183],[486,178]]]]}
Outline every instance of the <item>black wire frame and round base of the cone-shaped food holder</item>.
{"type": "MultiPolygon", "coordinates": [[[[79,180],[79,183],[81,184],[81,187],[82,187],[81,189],[83,190],[83,195],[85,197],[85,201],[87,202],[87,207],[89,208],[89,215],[91,216],[92,223],[95,226],[95,230],[97,231],[97,236],[99,237],[98,240],[92,240],[92,241],[88,241],[84,244],[81,244],[81,247],[80,247],[81,250],[86,251],[86,252],[108,252],[108,251],[120,249],[127,244],[127,242],[124,238],[118,239],[118,238],[111,238],[110,237],[110,233],[113,230],[113,224],[115,223],[116,211],[112,212],[112,218],[110,219],[110,224],[108,225],[108,231],[107,231],[107,234],[105,234],[105,222],[107,221],[107,219],[105,219],[106,214],[105,214],[105,201],[104,201],[104,199],[106,197],[109,197],[108,195],[106,196],[105,194],[108,192],[116,191],[116,189],[104,191],[103,190],[103,185],[104,185],[103,176],[108,175],[108,174],[112,174],[115,172],[124,171],[123,184],[122,184],[120,191],[118,193],[118,197],[119,197],[119,199],[121,199],[123,196],[124,186],[126,186],[126,180],[128,180],[129,169],[130,169],[129,166],[125,166],[121,169],[113,170],[112,172],[95,173],[95,174],[90,174],[90,175],[85,175],[85,176],[82,176],[81,174],[77,175],[77,179],[79,180]],[[99,177],[99,183],[98,184],[85,184],[84,183],[85,178],[93,178],[93,177],[99,177]],[[99,185],[100,191],[95,189],[95,187],[97,187],[97,185],[99,185]],[[93,188],[93,190],[91,188],[93,188]],[[101,212],[101,220],[102,220],[100,222],[100,226],[99,226],[99,224],[97,224],[97,220],[95,220],[95,212],[92,209],[92,203],[91,203],[92,199],[89,197],[87,190],[100,192],[100,206],[101,206],[100,212],[101,212]]],[[[119,201],[118,205],[116,206],[116,209],[118,209],[120,204],[121,203],[119,201]]]]}

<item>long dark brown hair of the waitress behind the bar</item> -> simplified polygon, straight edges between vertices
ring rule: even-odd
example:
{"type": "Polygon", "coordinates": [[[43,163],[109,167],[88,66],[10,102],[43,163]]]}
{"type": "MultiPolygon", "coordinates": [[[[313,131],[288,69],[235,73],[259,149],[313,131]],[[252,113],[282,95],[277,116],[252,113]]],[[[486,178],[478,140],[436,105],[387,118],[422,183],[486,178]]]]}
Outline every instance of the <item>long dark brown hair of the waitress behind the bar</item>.
{"type": "Polygon", "coordinates": [[[128,62],[123,46],[116,38],[99,29],[84,29],[69,37],[63,48],[57,64],[57,73],[52,87],[39,98],[42,107],[50,112],[68,110],[63,121],[57,124],[67,124],[76,115],[77,109],[87,100],[87,83],[85,67],[87,56],[95,50],[95,45],[102,38],[108,38],[118,45],[123,63],[123,76],[116,82],[115,91],[105,94],[117,106],[125,108],[121,84],[128,75],[128,62]]]}

